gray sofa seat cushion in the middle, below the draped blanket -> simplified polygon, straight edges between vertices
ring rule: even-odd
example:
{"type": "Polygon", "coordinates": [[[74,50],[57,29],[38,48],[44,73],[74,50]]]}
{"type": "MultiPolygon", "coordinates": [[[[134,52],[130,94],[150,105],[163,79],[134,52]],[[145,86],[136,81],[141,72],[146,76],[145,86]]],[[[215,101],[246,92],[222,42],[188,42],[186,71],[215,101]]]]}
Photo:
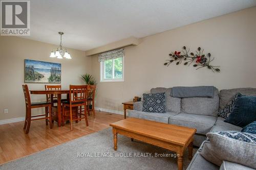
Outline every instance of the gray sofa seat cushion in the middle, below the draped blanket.
{"type": "Polygon", "coordinates": [[[169,124],[196,128],[197,133],[205,135],[214,126],[216,119],[215,116],[179,113],[169,118],[169,124]]]}

